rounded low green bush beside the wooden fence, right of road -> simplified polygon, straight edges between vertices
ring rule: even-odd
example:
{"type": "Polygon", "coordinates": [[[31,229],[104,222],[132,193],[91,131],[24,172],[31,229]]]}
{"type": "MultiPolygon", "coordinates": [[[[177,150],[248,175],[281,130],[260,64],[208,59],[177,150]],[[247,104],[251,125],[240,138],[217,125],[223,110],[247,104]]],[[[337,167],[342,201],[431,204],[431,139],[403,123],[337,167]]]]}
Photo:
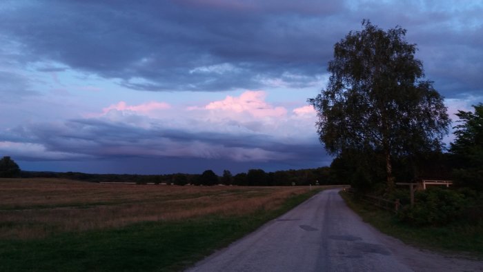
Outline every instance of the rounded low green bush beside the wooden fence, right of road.
{"type": "Polygon", "coordinates": [[[415,193],[415,205],[398,214],[400,220],[416,226],[441,226],[462,217],[467,202],[462,193],[431,188],[415,193]]]}

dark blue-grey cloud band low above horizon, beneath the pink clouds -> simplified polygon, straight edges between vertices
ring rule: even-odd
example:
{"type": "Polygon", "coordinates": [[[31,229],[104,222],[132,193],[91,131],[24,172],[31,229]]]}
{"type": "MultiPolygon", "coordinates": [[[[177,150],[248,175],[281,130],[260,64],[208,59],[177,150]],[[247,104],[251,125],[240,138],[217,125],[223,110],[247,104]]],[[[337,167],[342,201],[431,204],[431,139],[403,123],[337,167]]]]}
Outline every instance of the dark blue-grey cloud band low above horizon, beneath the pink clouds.
{"type": "MultiPolygon", "coordinates": [[[[267,166],[285,164],[287,167],[317,166],[330,160],[316,139],[302,142],[276,139],[270,135],[193,133],[159,126],[139,128],[99,119],[19,126],[1,133],[0,138],[3,141],[39,144],[47,153],[55,154],[52,155],[54,160],[152,157],[226,160],[232,164],[253,162],[267,166]]],[[[37,157],[32,154],[14,155],[23,160],[36,160],[37,157]]]]}

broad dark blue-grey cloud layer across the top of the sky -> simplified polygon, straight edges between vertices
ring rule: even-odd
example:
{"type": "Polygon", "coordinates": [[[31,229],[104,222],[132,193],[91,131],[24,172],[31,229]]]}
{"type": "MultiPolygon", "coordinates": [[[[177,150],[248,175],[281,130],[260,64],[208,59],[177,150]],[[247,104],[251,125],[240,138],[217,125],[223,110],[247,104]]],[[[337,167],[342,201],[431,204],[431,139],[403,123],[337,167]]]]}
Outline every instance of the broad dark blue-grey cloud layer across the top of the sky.
{"type": "Polygon", "coordinates": [[[453,97],[483,85],[475,3],[462,11],[451,1],[13,1],[1,32],[26,46],[30,61],[59,61],[128,88],[230,90],[263,88],[266,78],[307,86],[326,71],[333,44],[369,18],[408,29],[428,77],[453,97]]]}

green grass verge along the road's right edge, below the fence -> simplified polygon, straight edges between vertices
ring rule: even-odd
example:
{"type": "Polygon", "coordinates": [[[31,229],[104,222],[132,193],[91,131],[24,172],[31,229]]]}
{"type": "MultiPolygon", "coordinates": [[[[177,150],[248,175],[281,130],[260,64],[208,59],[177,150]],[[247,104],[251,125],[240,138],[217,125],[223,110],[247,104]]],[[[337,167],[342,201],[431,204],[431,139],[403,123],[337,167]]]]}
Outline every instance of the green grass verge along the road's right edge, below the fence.
{"type": "Polygon", "coordinates": [[[393,213],[364,202],[357,202],[342,191],[340,194],[364,222],[406,244],[435,251],[457,251],[467,253],[470,257],[483,258],[483,222],[458,222],[448,226],[409,226],[399,222],[393,213]]]}

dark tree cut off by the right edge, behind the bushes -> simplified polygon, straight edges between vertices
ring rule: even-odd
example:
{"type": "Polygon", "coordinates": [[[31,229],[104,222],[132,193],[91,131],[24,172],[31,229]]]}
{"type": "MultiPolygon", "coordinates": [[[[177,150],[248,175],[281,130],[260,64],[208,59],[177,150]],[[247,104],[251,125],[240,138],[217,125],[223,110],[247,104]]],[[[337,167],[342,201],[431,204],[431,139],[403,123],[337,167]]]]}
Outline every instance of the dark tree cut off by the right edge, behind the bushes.
{"type": "Polygon", "coordinates": [[[451,143],[453,175],[459,186],[483,190],[483,104],[475,112],[458,110],[460,124],[455,126],[456,139],[451,143]]]}

